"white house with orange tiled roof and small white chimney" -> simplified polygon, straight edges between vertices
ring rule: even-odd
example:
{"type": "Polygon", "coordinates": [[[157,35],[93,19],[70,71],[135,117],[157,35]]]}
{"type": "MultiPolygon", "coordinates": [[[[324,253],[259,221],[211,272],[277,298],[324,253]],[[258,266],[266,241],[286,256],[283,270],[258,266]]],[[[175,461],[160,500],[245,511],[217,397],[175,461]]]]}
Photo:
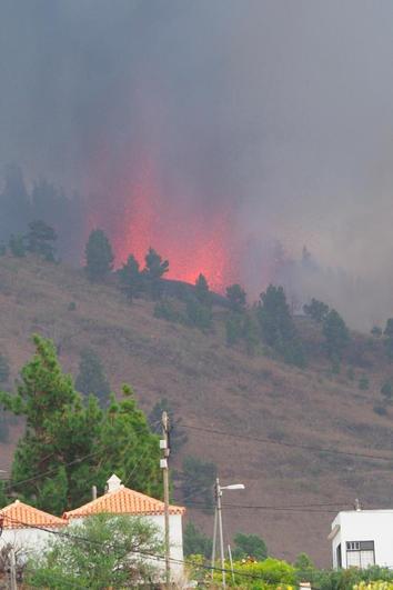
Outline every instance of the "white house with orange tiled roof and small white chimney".
{"type": "MultiPolygon", "coordinates": [[[[183,573],[182,517],[184,512],[185,508],[169,507],[170,557],[177,561],[171,562],[173,579],[179,579],[183,573]]],[[[164,538],[164,502],[125,488],[115,474],[108,480],[107,492],[103,496],[75,510],[64,512],[63,519],[71,523],[71,521],[80,521],[99,513],[145,517],[162,532],[162,539],[164,538]]]]}

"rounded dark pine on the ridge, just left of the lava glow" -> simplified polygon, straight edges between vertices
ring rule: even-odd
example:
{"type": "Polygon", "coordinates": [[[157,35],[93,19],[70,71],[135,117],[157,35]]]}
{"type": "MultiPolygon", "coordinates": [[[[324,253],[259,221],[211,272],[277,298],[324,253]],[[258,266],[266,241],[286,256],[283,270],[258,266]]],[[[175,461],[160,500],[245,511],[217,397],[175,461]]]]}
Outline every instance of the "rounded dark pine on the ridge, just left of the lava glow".
{"type": "Polygon", "coordinates": [[[101,229],[93,230],[85,246],[85,271],[91,281],[102,281],[112,272],[113,252],[111,243],[101,229]]]}

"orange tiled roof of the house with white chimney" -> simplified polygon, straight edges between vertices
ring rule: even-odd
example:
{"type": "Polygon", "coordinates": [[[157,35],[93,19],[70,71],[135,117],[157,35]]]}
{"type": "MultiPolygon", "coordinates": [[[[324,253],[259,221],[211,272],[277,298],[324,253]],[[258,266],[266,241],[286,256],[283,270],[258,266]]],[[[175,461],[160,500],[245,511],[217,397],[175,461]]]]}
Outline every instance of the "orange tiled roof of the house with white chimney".
{"type": "MultiPolygon", "coordinates": [[[[170,514],[184,514],[185,508],[180,506],[170,506],[170,514]]],[[[138,516],[153,516],[164,513],[164,503],[161,500],[150,498],[144,493],[140,493],[128,488],[121,487],[118,490],[100,496],[97,500],[64,512],[64,519],[88,517],[99,513],[113,514],[138,514],[138,516]]]]}

